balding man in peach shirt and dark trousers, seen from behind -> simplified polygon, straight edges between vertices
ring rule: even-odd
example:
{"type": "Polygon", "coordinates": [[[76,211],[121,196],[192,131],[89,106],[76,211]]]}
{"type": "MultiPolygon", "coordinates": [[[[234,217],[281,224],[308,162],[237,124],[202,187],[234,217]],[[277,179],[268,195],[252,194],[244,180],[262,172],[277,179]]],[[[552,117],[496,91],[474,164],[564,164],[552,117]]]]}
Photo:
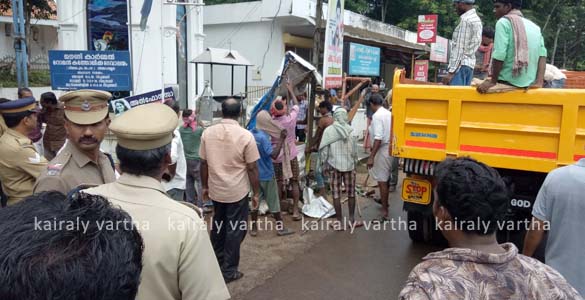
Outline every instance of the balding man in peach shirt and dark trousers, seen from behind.
{"type": "Polygon", "coordinates": [[[211,243],[226,283],[244,276],[238,271],[240,244],[246,236],[248,192],[254,191],[253,207],[258,206],[260,159],[254,136],[238,124],[241,113],[236,99],[221,105],[223,120],[207,128],[201,137],[201,180],[203,199],[213,201],[211,243]]]}

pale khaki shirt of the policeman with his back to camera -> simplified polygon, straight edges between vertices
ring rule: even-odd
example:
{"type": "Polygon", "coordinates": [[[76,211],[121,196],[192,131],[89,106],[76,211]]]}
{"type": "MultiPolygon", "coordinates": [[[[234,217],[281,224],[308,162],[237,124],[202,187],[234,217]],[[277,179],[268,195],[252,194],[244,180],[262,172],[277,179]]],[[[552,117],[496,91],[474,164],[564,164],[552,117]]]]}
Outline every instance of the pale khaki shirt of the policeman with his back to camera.
{"type": "Polygon", "coordinates": [[[118,181],[85,190],[119,205],[144,240],[143,269],[136,299],[228,299],[205,222],[172,200],[160,181],[122,174],[118,181]]]}

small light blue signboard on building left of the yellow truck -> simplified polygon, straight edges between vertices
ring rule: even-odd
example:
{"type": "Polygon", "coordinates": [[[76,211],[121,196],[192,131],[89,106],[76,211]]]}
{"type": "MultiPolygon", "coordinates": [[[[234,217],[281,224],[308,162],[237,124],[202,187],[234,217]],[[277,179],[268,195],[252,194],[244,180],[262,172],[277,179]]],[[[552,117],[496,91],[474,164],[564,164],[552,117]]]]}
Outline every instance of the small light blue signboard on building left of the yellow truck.
{"type": "Polygon", "coordinates": [[[350,43],[349,74],[380,76],[380,48],[350,43]]]}

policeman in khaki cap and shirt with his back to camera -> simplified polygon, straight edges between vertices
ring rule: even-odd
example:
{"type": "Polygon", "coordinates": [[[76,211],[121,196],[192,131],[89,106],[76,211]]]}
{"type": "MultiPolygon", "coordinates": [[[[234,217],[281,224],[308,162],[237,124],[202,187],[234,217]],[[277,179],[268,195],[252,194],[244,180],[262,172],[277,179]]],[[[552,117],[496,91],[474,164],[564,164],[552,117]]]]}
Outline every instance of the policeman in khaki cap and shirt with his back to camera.
{"type": "Polygon", "coordinates": [[[228,299],[205,222],[171,199],[161,183],[171,163],[176,127],[177,115],[160,103],[135,107],[114,119],[110,130],[118,138],[122,175],[84,192],[127,211],[142,234],[144,267],[136,299],[228,299]]]}

